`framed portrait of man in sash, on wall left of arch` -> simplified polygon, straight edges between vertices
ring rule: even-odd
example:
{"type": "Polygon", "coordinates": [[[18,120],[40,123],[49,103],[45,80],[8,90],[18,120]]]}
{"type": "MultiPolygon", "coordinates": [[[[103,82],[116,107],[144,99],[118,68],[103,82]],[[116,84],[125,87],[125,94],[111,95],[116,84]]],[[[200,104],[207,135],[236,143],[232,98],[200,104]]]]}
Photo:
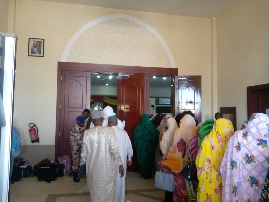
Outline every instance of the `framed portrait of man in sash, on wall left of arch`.
{"type": "Polygon", "coordinates": [[[29,38],[28,56],[44,57],[45,39],[29,38]]]}

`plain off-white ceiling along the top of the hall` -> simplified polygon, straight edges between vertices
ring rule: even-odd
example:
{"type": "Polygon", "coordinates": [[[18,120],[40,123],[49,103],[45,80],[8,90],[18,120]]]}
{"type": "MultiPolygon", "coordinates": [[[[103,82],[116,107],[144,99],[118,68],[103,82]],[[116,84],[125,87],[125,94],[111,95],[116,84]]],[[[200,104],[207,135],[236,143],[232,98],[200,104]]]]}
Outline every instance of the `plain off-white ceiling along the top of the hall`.
{"type": "Polygon", "coordinates": [[[43,0],[199,18],[218,17],[238,0],[43,0]]]}

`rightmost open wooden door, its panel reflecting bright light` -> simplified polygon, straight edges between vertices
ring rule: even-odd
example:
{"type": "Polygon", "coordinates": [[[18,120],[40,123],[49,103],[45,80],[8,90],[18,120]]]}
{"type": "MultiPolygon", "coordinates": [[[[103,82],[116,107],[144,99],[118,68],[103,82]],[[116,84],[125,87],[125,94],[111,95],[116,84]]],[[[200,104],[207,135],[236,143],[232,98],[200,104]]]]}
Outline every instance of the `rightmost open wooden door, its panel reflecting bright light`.
{"type": "Polygon", "coordinates": [[[201,88],[201,76],[175,76],[175,115],[190,110],[199,123],[202,121],[201,88]]]}

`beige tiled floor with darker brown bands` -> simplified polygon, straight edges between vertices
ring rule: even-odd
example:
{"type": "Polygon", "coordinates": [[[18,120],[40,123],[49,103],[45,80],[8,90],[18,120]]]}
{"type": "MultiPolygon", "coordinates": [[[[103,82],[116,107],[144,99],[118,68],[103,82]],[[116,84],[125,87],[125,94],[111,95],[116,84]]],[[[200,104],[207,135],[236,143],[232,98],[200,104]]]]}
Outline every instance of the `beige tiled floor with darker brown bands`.
{"type": "MultiPolygon", "coordinates": [[[[164,200],[164,191],[154,185],[154,178],[145,180],[139,173],[127,173],[126,197],[131,202],[156,202],[164,200]]],[[[47,183],[37,177],[23,178],[11,184],[10,202],[80,202],[90,201],[86,180],[76,183],[72,177],[58,177],[47,183]]]]}

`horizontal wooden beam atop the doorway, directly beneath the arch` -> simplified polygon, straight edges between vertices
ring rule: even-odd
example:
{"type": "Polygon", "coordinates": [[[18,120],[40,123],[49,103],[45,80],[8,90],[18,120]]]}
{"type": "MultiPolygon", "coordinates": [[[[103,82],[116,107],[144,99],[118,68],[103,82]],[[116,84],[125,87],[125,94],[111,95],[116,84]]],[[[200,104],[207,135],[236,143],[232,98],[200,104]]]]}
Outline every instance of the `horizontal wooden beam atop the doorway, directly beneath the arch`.
{"type": "Polygon", "coordinates": [[[61,70],[105,72],[105,73],[144,72],[145,75],[156,75],[156,76],[178,75],[177,68],[106,65],[106,64],[92,64],[92,63],[79,63],[79,62],[58,62],[58,68],[60,68],[61,70]]]}

